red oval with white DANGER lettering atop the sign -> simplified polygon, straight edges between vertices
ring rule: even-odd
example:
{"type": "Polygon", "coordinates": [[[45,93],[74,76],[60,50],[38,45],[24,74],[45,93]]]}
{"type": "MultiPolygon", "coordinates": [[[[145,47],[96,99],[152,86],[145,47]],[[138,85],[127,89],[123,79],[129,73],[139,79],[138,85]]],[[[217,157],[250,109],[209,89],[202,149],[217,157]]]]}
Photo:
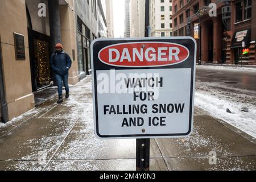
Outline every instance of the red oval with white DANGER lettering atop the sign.
{"type": "Polygon", "coordinates": [[[159,67],[187,60],[189,51],[175,43],[122,43],[101,49],[102,63],[120,67],[159,67]]]}

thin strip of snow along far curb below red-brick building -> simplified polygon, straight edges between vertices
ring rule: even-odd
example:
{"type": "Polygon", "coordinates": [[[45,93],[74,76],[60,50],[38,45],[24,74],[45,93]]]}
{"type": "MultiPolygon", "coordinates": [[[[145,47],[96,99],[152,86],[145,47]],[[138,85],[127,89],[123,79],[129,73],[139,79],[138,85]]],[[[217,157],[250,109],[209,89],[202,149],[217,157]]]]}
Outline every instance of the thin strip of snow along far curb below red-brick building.
{"type": "Polygon", "coordinates": [[[256,72],[256,67],[239,67],[237,66],[218,66],[218,65],[197,65],[196,66],[197,69],[217,69],[217,70],[224,70],[224,71],[240,71],[240,72],[256,72]]]}

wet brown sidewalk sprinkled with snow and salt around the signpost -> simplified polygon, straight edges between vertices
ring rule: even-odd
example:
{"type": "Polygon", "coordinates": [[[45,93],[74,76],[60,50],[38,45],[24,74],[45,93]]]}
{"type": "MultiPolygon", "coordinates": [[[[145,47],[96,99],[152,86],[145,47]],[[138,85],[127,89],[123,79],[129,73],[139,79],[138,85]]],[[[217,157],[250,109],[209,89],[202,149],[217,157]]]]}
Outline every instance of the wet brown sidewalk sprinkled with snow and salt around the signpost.
{"type": "MultiPolygon", "coordinates": [[[[94,137],[90,78],[55,102],[0,126],[0,170],[135,170],[135,139],[94,137]]],[[[191,137],[151,139],[150,158],[151,170],[255,170],[256,140],[196,107],[191,137]]]]}

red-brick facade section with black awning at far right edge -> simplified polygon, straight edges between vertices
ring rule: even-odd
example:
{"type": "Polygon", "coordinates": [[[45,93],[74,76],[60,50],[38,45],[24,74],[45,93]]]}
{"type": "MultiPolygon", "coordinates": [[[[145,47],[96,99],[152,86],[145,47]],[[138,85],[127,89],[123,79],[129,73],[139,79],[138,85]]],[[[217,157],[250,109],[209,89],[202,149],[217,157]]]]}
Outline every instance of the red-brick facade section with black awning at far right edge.
{"type": "Polygon", "coordinates": [[[256,1],[233,1],[231,21],[232,42],[228,63],[255,65],[256,1]]]}

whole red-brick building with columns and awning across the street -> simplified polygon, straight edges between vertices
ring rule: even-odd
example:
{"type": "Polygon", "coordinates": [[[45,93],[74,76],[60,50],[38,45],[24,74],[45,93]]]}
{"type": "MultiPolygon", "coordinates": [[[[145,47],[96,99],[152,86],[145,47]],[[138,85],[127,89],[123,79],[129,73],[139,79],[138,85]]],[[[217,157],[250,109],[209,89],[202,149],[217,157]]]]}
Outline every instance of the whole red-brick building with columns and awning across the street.
{"type": "Polygon", "coordinates": [[[173,0],[174,36],[193,36],[198,60],[255,65],[256,1],[173,0]],[[216,8],[216,15],[212,14],[216,8]]]}

